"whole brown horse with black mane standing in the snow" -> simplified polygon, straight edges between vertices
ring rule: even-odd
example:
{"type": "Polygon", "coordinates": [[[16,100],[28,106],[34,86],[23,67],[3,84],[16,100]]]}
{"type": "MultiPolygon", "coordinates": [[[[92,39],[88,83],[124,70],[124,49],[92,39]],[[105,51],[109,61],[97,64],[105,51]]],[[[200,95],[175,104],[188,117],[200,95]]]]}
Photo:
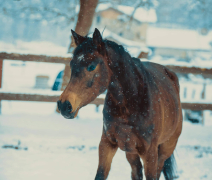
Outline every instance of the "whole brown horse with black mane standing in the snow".
{"type": "Polygon", "coordinates": [[[163,171],[174,178],[173,151],[182,130],[178,78],[169,69],[132,58],[123,46],[103,40],[95,29],[93,38],[72,31],[77,44],[70,63],[71,79],[58,101],[65,118],[106,89],[99,166],[95,180],[109,174],[118,147],[126,152],[132,179],[141,180],[142,164],[147,180],[163,171]]]}

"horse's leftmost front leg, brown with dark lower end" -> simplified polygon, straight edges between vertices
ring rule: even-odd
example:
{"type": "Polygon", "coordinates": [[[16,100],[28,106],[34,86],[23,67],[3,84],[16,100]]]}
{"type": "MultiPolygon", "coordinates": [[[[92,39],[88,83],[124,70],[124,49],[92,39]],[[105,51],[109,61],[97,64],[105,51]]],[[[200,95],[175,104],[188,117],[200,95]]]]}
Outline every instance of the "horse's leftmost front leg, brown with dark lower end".
{"type": "Polygon", "coordinates": [[[117,145],[111,144],[104,132],[99,144],[99,166],[95,180],[105,180],[109,174],[112,159],[118,149],[117,145]]]}

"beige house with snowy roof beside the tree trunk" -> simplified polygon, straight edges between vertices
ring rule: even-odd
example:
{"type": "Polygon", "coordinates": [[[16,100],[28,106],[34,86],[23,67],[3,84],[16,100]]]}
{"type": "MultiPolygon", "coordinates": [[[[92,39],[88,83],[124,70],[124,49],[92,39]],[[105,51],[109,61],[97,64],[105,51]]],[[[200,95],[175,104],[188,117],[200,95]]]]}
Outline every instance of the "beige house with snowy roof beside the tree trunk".
{"type": "Polygon", "coordinates": [[[92,27],[106,28],[120,37],[145,43],[148,26],[156,21],[155,9],[99,4],[92,27]]]}

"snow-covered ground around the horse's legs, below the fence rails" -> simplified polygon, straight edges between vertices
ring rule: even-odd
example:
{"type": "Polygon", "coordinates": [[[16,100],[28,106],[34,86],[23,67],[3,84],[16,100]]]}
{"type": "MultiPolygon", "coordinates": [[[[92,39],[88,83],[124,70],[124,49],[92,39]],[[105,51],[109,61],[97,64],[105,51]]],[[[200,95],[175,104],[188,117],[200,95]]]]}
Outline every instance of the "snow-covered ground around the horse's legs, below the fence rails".
{"type": "MultiPolygon", "coordinates": [[[[54,112],[53,103],[13,103],[12,112],[6,104],[3,102],[0,115],[1,180],[94,179],[102,107],[97,113],[95,106],[88,105],[77,119],[67,120],[54,112]],[[25,112],[18,111],[21,108],[25,112]]],[[[212,179],[211,129],[210,125],[184,122],[175,152],[179,180],[212,179]]],[[[130,171],[124,152],[119,150],[108,179],[129,180],[130,171]]]]}

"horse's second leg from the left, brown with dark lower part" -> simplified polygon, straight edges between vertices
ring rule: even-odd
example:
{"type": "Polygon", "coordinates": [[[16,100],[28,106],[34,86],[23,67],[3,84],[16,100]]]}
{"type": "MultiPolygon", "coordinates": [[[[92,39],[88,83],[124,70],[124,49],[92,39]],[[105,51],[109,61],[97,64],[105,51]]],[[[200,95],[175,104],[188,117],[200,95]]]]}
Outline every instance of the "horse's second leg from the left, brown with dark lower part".
{"type": "Polygon", "coordinates": [[[143,180],[142,164],[139,155],[126,153],[126,157],[132,168],[132,180],[143,180]]]}

